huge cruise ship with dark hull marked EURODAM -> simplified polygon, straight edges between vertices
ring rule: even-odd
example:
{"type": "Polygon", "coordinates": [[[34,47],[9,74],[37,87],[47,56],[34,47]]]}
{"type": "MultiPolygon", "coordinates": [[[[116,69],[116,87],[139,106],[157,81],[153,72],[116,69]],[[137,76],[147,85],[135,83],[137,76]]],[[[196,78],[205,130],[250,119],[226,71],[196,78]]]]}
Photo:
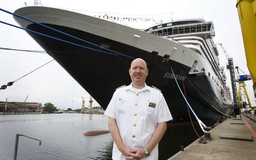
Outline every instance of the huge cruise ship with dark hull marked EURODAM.
{"type": "Polygon", "coordinates": [[[131,83],[133,58],[146,61],[146,84],[163,93],[173,115],[169,123],[190,121],[175,79],[202,121],[220,120],[231,108],[212,22],[184,19],[141,30],[49,6],[24,6],[14,13],[91,43],[14,16],[23,28],[73,43],[28,32],[104,109],[116,88],[131,83]]]}

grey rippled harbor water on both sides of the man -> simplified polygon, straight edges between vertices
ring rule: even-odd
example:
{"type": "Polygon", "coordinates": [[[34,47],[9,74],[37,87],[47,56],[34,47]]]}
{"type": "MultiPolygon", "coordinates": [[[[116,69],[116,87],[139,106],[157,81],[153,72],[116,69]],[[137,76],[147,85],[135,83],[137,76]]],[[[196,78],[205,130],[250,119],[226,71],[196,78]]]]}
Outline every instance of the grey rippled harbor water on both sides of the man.
{"type": "MultiPolygon", "coordinates": [[[[113,139],[108,134],[84,136],[93,130],[108,130],[108,117],[93,114],[0,115],[0,160],[13,159],[16,134],[18,160],[111,160],[113,139]]],[[[200,131],[196,124],[196,130],[200,131]]],[[[202,135],[202,132],[199,132],[202,135]]],[[[195,141],[191,124],[168,125],[159,143],[159,160],[166,160],[195,141]]]]}

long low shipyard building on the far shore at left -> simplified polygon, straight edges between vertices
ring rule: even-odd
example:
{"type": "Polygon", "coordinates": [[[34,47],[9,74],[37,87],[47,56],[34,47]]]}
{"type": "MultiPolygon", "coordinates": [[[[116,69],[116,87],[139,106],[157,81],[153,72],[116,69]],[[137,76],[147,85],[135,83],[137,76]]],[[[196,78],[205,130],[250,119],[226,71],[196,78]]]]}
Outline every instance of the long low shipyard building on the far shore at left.
{"type": "Polygon", "coordinates": [[[3,102],[0,101],[0,112],[42,112],[42,104],[38,102],[3,102]]]}

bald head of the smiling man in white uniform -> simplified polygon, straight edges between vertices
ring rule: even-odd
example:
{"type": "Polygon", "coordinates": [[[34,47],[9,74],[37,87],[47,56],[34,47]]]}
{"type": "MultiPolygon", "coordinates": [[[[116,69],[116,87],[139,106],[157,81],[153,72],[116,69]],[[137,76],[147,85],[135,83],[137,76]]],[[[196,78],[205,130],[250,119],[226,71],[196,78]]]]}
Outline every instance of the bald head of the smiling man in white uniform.
{"type": "Polygon", "coordinates": [[[145,61],[142,59],[133,60],[131,68],[129,69],[129,74],[131,76],[132,83],[137,85],[145,84],[148,74],[148,69],[145,61]]]}

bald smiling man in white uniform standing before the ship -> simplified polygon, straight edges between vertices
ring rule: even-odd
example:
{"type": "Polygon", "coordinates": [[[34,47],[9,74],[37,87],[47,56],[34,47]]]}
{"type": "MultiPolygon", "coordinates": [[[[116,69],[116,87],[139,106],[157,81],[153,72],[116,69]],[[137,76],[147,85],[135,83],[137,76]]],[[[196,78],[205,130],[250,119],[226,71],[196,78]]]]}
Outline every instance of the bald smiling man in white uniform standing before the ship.
{"type": "Polygon", "coordinates": [[[158,143],[172,115],[163,94],[146,85],[147,64],[131,63],[132,83],[115,91],[105,115],[114,140],[113,160],[157,160],[158,143]]]}

